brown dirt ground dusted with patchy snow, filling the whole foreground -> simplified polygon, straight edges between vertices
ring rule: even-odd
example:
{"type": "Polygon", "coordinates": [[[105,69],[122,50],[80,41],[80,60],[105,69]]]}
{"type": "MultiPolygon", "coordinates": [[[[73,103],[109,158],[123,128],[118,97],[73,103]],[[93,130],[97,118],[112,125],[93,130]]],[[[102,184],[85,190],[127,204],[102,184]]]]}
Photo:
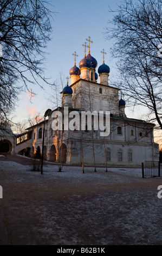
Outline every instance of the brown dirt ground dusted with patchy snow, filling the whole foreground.
{"type": "Polygon", "coordinates": [[[0,162],[0,245],[162,244],[162,178],[23,168],[0,162]]]}

